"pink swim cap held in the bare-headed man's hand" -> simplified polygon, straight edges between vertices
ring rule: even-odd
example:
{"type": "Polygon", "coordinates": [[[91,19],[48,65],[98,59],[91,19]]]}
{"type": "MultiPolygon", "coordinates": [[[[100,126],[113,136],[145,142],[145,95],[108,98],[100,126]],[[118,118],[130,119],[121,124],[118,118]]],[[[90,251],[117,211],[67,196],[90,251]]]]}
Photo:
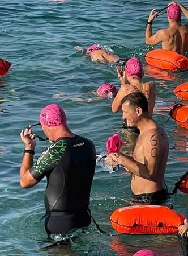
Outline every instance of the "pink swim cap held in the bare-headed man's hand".
{"type": "Polygon", "coordinates": [[[109,137],[106,141],[106,151],[108,154],[110,153],[117,153],[119,149],[123,146],[123,142],[118,134],[114,134],[113,136],[109,137]]]}

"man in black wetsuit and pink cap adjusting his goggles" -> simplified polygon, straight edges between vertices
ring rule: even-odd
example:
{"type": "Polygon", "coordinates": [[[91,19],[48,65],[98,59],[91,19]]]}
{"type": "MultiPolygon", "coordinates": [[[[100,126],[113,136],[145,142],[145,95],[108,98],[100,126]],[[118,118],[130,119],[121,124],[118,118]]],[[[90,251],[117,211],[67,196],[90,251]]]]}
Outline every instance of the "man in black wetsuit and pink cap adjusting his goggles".
{"type": "Polygon", "coordinates": [[[62,234],[91,223],[89,196],[96,165],[93,142],[72,133],[66,114],[57,104],[41,110],[40,123],[50,146],[33,164],[35,137],[28,126],[20,137],[25,144],[20,167],[20,185],[31,188],[45,176],[45,230],[48,235],[62,234]]]}

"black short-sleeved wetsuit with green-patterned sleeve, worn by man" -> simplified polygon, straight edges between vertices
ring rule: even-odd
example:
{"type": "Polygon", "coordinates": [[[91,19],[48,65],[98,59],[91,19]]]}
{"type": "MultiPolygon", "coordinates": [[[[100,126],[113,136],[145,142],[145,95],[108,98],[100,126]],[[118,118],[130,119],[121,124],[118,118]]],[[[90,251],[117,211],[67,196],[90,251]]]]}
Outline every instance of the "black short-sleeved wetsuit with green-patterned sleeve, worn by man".
{"type": "Polygon", "coordinates": [[[88,226],[89,197],[95,172],[95,146],[89,139],[61,137],[40,155],[31,175],[40,181],[47,177],[45,229],[62,234],[88,226]]]}

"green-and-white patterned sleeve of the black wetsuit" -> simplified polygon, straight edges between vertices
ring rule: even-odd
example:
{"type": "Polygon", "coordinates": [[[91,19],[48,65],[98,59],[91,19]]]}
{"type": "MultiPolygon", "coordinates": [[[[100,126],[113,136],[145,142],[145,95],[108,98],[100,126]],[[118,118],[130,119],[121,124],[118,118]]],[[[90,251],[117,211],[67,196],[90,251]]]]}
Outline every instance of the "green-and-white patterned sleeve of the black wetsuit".
{"type": "Polygon", "coordinates": [[[45,148],[37,162],[30,169],[33,178],[40,181],[49,172],[52,172],[55,166],[61,161],[63,155],[65,155],[66,148],[67,142],[65,140],[58,141],[45,148]]]}

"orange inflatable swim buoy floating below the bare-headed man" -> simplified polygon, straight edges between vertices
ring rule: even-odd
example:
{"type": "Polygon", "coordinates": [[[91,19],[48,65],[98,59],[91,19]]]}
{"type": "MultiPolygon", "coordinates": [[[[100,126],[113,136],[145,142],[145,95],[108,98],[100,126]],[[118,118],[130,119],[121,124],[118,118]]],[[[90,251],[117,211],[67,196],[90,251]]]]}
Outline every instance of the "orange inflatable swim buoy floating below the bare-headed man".
{"type": "Polygon", "coordinates": [[[185,216],[163,205],[133,205],[115,210],[110,216],[114,229],[127,234],[173,234],[185,216]]]}

